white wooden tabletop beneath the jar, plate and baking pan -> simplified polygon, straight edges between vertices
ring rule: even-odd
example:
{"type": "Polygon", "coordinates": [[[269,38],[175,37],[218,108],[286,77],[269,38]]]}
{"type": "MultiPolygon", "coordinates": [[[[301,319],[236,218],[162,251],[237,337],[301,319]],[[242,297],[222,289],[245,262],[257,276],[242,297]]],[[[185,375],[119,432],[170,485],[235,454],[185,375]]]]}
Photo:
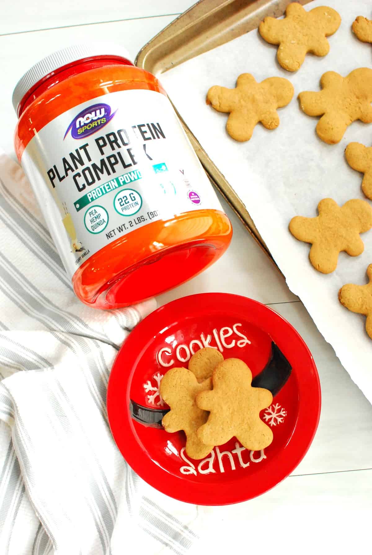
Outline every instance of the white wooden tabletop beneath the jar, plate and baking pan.
{"type": "MultiPolygon", "coordinates": [[[[134,58],[154,34],[191,4],[192,0],[7,2],[0,19],[0,147],[13,153],[13,87],[37,60],[58,48],[92,40],[123,44],[134,58]]],[[[372,406],[350,380],[301,302],[232,210],[223,205],[234,228],[230,249],[198,278],[161,295],[159,304],[197,292],[224,291],[272,306],[308,344],[318,367],[323,398],[313,445],[293,475],[247,503],[200,508],[212,512],[215,527],[213,537],[200,541],[196,553],[211,547],[214,551],[218,547],[217,552],[224,547],[231,549],[232,538],[234,549],[262,545],[265,551],[286,554],[302,555],[314,549],[319,553],[326,549],[331,553],[361,548],[370,551],[372,406]],[[223,268],[229,268],[229,273],[223,268]]]]}

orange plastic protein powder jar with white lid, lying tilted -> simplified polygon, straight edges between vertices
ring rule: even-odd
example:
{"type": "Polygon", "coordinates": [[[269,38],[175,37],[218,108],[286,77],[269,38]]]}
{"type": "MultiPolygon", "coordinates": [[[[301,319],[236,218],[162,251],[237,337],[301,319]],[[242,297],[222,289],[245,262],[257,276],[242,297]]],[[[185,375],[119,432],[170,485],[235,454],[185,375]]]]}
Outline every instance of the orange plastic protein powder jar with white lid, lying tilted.
{"type": "Polygon", "coordinates": [[[78,45],[18,82],[15,149],[76,295],[135,304],[193,278],[232,226],[154,75],[78,45]]]}

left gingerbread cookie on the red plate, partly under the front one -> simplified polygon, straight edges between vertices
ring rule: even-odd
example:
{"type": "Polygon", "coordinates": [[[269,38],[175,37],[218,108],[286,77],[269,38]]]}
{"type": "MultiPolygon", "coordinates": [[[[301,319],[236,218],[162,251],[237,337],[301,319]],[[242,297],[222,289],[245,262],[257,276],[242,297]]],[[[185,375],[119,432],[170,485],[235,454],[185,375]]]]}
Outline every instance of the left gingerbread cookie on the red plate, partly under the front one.
{"type": "Polygon", "coordinates": [[[198,393],[212,389],[212,379],[198,383],[196,376],[186,368],[172,368],[160,382],[160,395],[170,411],[164,416],[162,424],[165,431],[173,433],[183,430],[186,434],[187,455],[194,459],[209,455],[214,445],[203,443],[196,431],[208,420],[208,412],[195,403],[198,393]]]}

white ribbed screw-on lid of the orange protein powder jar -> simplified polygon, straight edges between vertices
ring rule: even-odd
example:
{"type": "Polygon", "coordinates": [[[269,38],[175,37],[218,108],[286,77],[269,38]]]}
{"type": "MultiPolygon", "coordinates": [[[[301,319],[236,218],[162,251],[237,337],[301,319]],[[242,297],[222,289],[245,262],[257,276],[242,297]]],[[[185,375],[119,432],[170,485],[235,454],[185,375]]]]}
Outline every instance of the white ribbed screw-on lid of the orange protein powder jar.
{"type": "Polygon", "coordinates": [[[73,46],[53,52],[53,54],[33,65],[19,79],[12,96],[13,107],[17,115],[22,98],[40,79],[63,67],[63,65],[77,62],[77,60],[82,60],[83,58],[90,58],[91,56],[119,56],[133,62],[126,48],[120,46],[120,44],[113,43],[74,44],[73,46]]]}

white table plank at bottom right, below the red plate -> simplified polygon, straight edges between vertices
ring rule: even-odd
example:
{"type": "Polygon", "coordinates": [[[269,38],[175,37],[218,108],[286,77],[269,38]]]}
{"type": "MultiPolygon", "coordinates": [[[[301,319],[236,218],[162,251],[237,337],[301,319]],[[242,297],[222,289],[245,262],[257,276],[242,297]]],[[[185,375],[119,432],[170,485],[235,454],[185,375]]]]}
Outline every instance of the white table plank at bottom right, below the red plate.
{"type": "Polygon", "coordinates": [[[372,470],[290,476],[245,503],[201,508],[210,533],[194,554],[369,553],[371,509],[372,470]]]}

